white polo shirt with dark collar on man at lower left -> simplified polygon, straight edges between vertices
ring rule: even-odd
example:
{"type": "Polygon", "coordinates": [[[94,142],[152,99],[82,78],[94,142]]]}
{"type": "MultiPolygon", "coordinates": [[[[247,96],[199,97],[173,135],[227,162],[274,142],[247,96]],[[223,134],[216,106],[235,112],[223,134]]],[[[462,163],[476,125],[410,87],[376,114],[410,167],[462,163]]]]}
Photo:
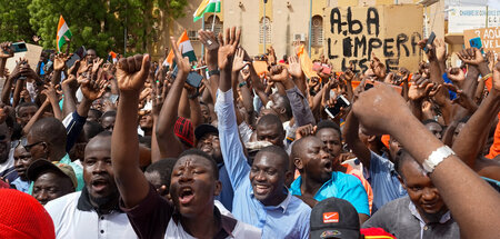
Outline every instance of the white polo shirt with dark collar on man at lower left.
{"type": "Polygon", "coordinates": [[[46,210],[52,217],[56,238],[138,238],[124,212],[99,216],[94,210],[79,210],[80,195],[80,191],[69,193],[46,205],[46,210]]]}

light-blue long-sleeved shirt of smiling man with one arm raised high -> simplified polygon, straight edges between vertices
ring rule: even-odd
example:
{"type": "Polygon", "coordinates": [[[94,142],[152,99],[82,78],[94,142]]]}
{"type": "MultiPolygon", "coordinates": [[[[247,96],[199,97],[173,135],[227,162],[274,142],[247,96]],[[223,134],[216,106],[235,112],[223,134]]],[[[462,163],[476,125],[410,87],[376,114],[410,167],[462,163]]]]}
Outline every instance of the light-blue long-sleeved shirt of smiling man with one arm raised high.
{"type": "MultiPolygon", "coordinates": [[[[288,193],[278,206],[264,206],[253,196],[249,180],[250,166],[243,155],[232,90],[218,91],[216,112],[222,157],[234,190],[232,213],[246,223],[262,229],[262,238],[309,238],[311,208],[288,193]]],[[[284,188],[283,190],[288,192],[284,188]]]]}

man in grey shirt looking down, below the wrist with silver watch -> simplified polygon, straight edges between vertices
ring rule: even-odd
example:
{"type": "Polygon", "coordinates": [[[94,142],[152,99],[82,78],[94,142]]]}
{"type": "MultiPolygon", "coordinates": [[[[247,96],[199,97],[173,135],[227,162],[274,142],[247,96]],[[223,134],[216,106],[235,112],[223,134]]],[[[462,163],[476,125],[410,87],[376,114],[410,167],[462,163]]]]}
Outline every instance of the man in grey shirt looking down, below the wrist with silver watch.
{"type": "Polygon", "coordinates": [[[460,229],[422,167],[404,150],[396,168],[408,197],[388,202],[363,228],[382,228],[397,238],[460,238],[460,229]]]}

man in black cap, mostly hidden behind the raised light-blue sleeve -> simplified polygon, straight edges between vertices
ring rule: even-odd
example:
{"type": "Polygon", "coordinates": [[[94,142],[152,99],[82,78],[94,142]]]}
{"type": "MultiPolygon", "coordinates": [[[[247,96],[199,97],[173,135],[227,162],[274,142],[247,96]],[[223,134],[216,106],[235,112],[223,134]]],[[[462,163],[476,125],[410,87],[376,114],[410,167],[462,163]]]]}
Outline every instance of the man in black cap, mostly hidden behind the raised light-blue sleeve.
{"type": "Polygon", "coordinates": [[[216,200],[230,211],[232,211],[232,198],[234,192],[232,190],[231,181],[229,180],[228,170],[224,166],[222,152],[220,151],[219,130],[212,125],[203,123],[194,129],[194,137],[197,139],[197,148],[211,156],[219,169],[219,180],[222,182],[222,190],[216,200]]]}

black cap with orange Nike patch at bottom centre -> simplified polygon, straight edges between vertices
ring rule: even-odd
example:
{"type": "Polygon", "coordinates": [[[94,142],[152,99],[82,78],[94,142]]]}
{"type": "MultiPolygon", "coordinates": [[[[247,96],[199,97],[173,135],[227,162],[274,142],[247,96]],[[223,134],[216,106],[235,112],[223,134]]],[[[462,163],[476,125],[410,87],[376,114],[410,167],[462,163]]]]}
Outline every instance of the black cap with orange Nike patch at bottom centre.
{"type": "Polygon", "coordinates": [[[311,238],[359,238],[360,226],[356,208],[340,198],[324,199],[312,208],[311,238]]]}

